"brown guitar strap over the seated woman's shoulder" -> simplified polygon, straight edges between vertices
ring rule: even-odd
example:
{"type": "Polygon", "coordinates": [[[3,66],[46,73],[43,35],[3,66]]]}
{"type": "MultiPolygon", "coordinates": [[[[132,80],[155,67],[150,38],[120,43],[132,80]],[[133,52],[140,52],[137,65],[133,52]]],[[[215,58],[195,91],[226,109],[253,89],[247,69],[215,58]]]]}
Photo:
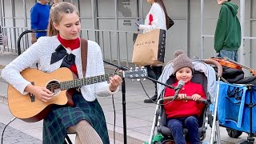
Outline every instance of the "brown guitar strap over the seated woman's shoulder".
{"type": "Polygon", "coordinates": [[[87,49],[88,49],[87,40],[85,38],[81,38],[82,74],[84,78],[86,77],[87,49]]]}

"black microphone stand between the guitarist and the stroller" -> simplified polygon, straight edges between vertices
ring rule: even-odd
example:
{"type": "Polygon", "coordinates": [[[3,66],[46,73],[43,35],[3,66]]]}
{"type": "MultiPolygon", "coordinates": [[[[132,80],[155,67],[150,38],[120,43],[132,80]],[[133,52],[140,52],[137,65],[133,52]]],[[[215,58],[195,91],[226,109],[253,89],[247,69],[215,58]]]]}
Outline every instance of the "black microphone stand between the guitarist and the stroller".
{"type": "MultiPolygon", "coordinates": [[[[118,68],[118,70],[129,70],[126,66],[118,66],[114,63],[107,62],[103,60],[103,62],[115,66],[118,68]]],[[[126,81],[125,78],[122,78],[122,123],[123,123],[123,143],[127,143],[127,134],[126,134],[126,81]]]]}

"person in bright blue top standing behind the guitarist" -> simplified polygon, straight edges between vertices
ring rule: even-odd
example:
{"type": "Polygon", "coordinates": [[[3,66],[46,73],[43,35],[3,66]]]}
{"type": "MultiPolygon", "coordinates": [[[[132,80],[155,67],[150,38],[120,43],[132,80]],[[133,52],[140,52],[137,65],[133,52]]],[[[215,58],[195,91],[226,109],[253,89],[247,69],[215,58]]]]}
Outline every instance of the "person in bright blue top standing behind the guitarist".
{"type": "MultiPolygon", "coordinates": [[[[31,30],[46,30],[50,16],[49,0],[38,0],[30,10],[31,30]]],[[[31,43],[37,42],[37,39],[46,36],[47,32],[31,33],[31,43]]]]}

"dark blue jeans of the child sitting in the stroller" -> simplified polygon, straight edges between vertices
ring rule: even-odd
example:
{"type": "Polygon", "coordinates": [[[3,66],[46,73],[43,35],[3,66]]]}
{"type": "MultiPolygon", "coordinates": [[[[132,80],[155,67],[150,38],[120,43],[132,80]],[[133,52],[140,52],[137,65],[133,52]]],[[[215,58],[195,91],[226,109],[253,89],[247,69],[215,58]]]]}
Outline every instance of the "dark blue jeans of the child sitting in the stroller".
{"type": "Polygon", "coordinates": [[[186,140],[183,135],[183,127],[188,129],[188,138],[190,138],[190,144],[200,143],[197,116],[170,118],[168,119],[167,126],[174,136],[175,143],[186,144],[186,140]]]}

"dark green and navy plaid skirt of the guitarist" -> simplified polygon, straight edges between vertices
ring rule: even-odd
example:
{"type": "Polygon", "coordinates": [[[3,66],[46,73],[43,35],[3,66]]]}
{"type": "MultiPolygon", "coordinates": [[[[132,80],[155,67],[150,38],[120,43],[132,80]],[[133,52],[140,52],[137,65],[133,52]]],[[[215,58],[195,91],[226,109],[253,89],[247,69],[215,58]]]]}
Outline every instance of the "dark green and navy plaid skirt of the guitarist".
{"type": "Polygon", "coordinates": [[[109,144],[106,120],[98,100],[87,102],[78,92],[73,95],[72,99],[74,106],[52,106],[50,113],[43,121],[42,142],[45,144],[64,143],[66,130],[81,120],[86,120],[97,131],[102,142],[109,144]]]}

